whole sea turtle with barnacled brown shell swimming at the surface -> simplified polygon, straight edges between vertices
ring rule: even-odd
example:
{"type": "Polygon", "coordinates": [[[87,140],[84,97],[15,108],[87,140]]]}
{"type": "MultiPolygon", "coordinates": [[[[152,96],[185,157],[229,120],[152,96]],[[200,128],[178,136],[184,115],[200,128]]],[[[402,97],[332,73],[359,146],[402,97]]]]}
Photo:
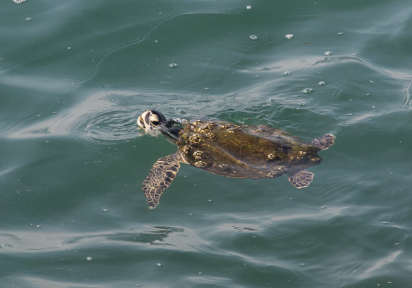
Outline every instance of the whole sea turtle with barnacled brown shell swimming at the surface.
{"type": "Polygon", "coordinates": [[[147,110],[137,124],[152,135],[161,134],[178,147],[157,160],[142,189],[149,208],[172,183],[180,163],[233,178],[275,178],[286,174],[296,188],[307,187],[318,165],[317,152],[328,149],[335,136],[326,134],[306,143],[297,136],[266,125],[240,125],[222,121],[175,121],[161,112],[147,110]]]}

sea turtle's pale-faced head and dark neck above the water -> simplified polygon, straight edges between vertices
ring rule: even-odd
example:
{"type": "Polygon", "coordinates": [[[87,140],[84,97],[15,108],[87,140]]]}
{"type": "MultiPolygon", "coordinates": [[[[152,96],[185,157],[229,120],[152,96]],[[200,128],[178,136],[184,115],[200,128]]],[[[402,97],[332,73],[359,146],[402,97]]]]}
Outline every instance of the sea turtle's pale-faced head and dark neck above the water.
{"type": "Polygon", "coordinates": [[[162,134],[172,143],[176,143],[179,139],[179,131],[181,128],[174,127],[173,120],[166,119],[161,112],[157,110],[147,110],[139,116],[137,124],[145,130],[145,132],[157,136],[162,134]]]}

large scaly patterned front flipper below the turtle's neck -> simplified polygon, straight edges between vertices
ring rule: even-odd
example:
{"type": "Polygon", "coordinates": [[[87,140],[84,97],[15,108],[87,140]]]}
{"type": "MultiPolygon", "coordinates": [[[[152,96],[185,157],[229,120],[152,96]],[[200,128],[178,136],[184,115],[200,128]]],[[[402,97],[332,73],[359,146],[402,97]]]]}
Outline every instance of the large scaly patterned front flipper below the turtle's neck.
{"type": "Polygon", "coordinates": [[[178,155],[175,153],[165,158],[160,158],[150,169],[148,177],[141,184],[141,189],[144,191],[150,209],[155,208],[159,204],[161,193],[172,183],[177,171],[179,171],[179,167],[178,155]]]}

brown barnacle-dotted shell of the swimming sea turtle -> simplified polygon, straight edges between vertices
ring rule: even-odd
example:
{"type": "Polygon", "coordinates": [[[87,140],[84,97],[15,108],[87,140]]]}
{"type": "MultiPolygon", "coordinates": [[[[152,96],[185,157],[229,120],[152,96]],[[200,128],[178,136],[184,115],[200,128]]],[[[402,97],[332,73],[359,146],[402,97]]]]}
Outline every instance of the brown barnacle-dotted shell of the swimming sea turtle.
{"type": "Polygon", "coordinates": [[[233,178],[292,175],[322,160],[317,146],[264,125],[187,122],[176,144],[185,163],[233,178]]]}

